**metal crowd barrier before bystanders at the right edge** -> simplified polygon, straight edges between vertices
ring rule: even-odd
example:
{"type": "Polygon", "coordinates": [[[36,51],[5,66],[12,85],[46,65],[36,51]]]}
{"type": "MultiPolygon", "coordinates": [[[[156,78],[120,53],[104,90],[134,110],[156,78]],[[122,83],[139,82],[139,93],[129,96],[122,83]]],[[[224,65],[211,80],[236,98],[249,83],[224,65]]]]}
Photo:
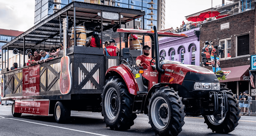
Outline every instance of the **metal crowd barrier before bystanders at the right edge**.
{"type": "Polygon", "coordinates": [[[239,101],[239,107],[241,108],[241,114],[256,114],[256,100],[252,101],[239,101]]]}

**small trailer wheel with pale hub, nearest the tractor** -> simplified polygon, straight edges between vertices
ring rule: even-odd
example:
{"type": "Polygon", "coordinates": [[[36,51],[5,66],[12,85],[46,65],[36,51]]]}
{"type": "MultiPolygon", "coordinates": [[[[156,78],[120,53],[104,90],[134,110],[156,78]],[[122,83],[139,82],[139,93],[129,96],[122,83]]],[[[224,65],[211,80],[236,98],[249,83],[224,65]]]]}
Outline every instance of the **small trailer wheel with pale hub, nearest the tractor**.
{"type": "Polygon", "coordinates": [[[54,116],[57,123],[66,123],[70,119],[71,111],[61,102],[57,102],[54,109],[54,116]]]}

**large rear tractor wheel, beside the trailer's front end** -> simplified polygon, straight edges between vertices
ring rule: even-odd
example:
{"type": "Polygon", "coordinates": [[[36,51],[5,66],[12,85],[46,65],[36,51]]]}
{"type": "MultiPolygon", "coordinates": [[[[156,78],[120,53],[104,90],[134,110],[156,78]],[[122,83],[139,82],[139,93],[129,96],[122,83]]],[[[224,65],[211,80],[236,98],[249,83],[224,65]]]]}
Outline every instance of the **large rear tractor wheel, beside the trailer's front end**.
{"type": "Polygon", "coordinates": [[[132,113],[134,96],[129,93],[124,80],[118,76],[106,80],[102,97],[102,114],[106,127],[111,130],[128,130],[137,115],[132,113]]]}

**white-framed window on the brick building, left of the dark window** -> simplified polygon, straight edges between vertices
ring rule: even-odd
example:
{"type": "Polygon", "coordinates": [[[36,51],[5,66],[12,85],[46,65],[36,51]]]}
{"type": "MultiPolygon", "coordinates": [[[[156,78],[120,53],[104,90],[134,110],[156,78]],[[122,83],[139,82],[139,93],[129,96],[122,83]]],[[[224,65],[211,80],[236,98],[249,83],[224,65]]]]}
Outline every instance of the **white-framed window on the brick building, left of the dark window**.
{"type": "Polygon", "coordinates": [[[221,58],[231,58],[231,38],[219,40],[222,46],[221,58]]]}

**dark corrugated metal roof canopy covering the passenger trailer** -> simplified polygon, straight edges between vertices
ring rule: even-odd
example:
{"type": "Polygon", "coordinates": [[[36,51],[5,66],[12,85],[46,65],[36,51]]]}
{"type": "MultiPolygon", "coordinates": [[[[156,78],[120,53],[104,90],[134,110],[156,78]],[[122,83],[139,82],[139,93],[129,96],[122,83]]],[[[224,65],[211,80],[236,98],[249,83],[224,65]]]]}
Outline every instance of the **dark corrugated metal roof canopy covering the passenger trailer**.
{"type": "MultiPolygon", "coordinates": [[[[14,48],[23,50],[23,40],[25,36],[25,50],[26,49],[50,49],[51,47],[59,47],[60,43],[60,21],[61,19],[66,18],[66,13],[68,12],[68,16],[73,19],[74,16],[74,7],[75,7],[75,16],[76,16],[76,26],[84,25],[86,27],[87,37],[91,36],[93,31],[101,32],[101,16],[98,15],[99,12],[115,12],[120,13],[124,17],[121,18],[121,24],[125,24],[130,20],[139,18],[145,15],[145,11],[141,10],[133,10],[122,7],[113,7],[107,5],[99,5],[99,4],[91,4],[85,2],[77,2],[73,1],[58,10],[51,16],[45,18],[37,25],[33,26],[26,32],[20,34],[15,39],[10,41],[9,43],[2,46],[2,49],[8,47],[9,50],[14,48]]],[[[102,19],[103,29],[102,31],[111,29],[113,26],[117,25],[111,24],[110,19],[102,19]]],[[[119,20],[115,20],[116,22],[119,20]]],[[[62,22],[62,20],[61,20],[62,22]]],[[[68,33],[71,35],[73,24],[69,23],[68,33]]],[[[63,30],[61,31],[63,35],[63,30]]],[[[63,40],[63,37],[62,37],[63,40]]]]}

